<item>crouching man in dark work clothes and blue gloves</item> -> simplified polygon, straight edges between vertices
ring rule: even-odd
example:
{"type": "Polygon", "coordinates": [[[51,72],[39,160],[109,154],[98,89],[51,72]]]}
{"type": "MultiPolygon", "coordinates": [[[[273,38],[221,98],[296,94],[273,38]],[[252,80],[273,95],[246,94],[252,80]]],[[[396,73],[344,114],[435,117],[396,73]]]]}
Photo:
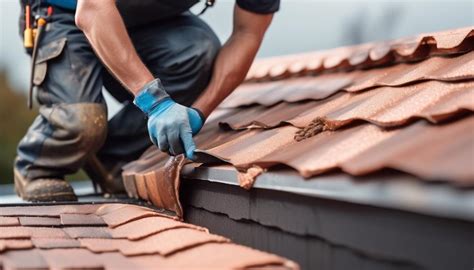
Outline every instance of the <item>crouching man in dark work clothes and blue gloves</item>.
{"type": "MultiPolygon", "coordinates": [[[[14,165],[17,193],[30,201],[76,200],[65,175],[84,167],[97,178],[90,161],[99,160],[119,176],[151,142],[193,159],[192,136],[244,80],[279,8],[279,0],[237,0],[221,48],[188,11],[194,0],[32,2],[36,15],[53,12],[35,61],[39,115],[14,165]],[[102,86],[124,104],[108,123],[102,86]]],[[[123,190],[118,180],[102,187],[123,190]]]]}

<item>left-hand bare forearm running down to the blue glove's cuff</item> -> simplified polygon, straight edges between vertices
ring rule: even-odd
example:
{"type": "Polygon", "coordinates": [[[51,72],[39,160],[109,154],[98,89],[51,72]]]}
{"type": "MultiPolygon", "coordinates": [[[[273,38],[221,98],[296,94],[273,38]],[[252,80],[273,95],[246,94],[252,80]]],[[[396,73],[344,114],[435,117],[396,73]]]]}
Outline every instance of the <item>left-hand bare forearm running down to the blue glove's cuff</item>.
{"type": "Polygon", "coordinates": [[[114,0],[79,0],[76,24],[107,69],[133,94],[153,80],[133,47],[114,0]]]}

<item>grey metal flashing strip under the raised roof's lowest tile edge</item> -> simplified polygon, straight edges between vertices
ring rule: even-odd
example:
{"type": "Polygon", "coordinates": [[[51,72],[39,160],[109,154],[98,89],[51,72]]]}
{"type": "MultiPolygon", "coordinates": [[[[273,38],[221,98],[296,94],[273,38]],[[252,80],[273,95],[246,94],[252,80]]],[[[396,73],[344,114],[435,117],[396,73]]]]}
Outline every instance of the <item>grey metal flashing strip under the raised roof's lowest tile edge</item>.
{"type": "MultiPolygon", "coordinates": [[[[183,168],[182,178],[238,187],[237,174],[237,170],[231,166],[204,167],[188,164],[183,168]]],[[[416,177],[395,172],[364,176],[363,181],[358,179],[362,178],[343,173],[304,179],[294,171],[278,170],[260,175],[253,188],[474,221],[474,189],[458,189],[444,183],[426,183],[416,177]]]]}

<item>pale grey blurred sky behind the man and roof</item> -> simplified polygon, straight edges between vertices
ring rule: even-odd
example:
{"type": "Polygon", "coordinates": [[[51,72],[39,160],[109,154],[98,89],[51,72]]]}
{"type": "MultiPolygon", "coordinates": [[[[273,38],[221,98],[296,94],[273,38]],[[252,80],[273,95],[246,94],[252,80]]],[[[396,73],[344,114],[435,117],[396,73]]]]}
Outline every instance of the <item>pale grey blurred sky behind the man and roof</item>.
{"type": "MultiPolygon", "coordinates": [[[[26,92],[29,59],[18,34],[18,2],[0,0],[0,69],[6,70],[11,84],[26,92]]],[[[234,3],[234,0],[217,0],[202,16],[222,42],[232,30],[234,3]]],[[[200,2],[192,11],[197,13],[202,7],[200,2]]],[[[281,9],[275,14],[257,57],[473,25],[474,1],[471,0],[281,0],[281,9]]]]}

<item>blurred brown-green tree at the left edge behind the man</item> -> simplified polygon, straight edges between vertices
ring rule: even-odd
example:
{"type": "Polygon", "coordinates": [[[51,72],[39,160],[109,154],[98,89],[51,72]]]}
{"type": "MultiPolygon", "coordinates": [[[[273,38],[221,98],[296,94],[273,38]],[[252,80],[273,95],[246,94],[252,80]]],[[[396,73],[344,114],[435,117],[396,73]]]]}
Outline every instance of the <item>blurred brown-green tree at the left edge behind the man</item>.
{"type": "Polygon", "coordinates": [[[36,111],[28,110],[26,96],[15,91],[0,70],[0,184],[13,183],[16,146],[33,122],[36,111]]]}

